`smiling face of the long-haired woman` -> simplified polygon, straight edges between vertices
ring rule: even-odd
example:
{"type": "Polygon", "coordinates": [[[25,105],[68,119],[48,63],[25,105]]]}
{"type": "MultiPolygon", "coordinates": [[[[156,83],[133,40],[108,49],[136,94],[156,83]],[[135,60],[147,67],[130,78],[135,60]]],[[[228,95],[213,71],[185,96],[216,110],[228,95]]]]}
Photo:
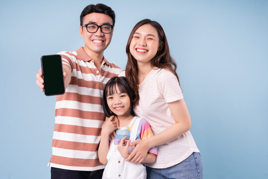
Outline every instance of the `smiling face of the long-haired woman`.
{"type": "Polygon", "coordinates": [[[159,37],[156,29],[150,24],[140,26],[132,37],[130,52],[138,64],[150,64],[159,50],[159,37]]]}

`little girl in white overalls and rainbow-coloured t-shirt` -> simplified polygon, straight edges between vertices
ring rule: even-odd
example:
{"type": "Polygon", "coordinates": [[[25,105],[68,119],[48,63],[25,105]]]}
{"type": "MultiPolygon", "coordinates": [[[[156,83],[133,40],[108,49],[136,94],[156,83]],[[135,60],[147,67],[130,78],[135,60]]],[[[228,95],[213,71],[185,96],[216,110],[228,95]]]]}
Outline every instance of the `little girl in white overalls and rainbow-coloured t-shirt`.
{"type": "MultiPolygon", "coordinates": [[[[131,141],[144,140],[152,136],[149,123],[145,119],[135,116],[134,98],[134,91],[128,85],[125,77],[112,78],[103,90],[103,110],[109,117],[102,126],[98,150],[100,162],[106,164],[103,179],[146,178],[146,169],[143,165],[125,161],[134,148],[130,147],[131,141]],[[119,120],[120,129],[116,130],[115,139],[110,142],[109,146],[109,135],[117,129],[114,116],[119,120]]],[[[153,163],[156,155],[156,147],[152,147],[145,154],[143,162],[153,163]]]]}

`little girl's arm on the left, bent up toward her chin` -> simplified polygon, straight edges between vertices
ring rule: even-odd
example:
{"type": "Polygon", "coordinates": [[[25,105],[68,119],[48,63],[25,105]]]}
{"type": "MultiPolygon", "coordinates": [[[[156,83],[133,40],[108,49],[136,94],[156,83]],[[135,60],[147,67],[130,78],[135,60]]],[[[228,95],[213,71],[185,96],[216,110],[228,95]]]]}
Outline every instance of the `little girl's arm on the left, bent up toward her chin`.
{"type": "Polygon", "coordinates": [[[101,140],[98,149],[99,161],[103,165],[107,164],[107,154],[109,151],[109,135],[117,129],[117,124],[112,121],[114,116],[111,116],[102,126],[101,140]]]}

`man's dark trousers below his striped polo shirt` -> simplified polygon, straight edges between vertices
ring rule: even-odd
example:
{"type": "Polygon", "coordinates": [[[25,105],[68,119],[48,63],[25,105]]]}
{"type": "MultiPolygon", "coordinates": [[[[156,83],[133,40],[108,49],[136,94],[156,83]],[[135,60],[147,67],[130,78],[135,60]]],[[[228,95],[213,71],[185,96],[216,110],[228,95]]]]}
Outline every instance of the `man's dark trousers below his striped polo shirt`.
{"type": "Polygon", "coordinates": [[[51,179],[101,179],[104,169],[96,171],[72,171],[51,168],[51,179]]]}

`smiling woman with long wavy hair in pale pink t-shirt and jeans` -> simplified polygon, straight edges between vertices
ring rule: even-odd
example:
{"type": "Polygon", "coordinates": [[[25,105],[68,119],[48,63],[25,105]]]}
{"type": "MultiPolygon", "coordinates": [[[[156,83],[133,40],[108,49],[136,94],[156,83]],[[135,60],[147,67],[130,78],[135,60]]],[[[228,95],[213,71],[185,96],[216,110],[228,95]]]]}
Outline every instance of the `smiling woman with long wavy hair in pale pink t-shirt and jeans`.
{"type": "Polygon", "coordinates": [[[146,118],[154,136],[134,141],[126,161],[141,163],[152,146],[158,156],[146,166],[147,179],[202,179],[199,149],[190,133],[191,119],[161,25],[144,19],[133,28],[126,47],[126,78],[135,91],[134,111],[146,118]]]}

